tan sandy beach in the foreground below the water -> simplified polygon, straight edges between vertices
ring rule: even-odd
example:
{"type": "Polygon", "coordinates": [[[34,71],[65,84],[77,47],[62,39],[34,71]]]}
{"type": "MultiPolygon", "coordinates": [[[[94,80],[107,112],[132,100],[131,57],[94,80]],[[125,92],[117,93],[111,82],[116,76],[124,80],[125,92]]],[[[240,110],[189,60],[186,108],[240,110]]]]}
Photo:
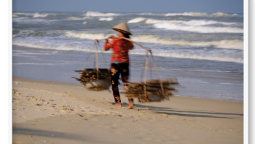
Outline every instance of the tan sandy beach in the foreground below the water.
{"type": "Polygon", "coordinates": [[[243,143],[243,102],[121,99],[115,108],[108,90],[13,77],[13,143],[243,143]]]}

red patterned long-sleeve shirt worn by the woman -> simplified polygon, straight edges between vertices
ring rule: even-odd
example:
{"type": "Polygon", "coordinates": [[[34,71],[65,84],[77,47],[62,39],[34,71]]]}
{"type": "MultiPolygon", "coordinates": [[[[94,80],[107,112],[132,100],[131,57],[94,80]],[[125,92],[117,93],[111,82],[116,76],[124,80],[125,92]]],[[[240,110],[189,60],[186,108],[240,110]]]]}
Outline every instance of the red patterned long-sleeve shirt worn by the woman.
{"type": "Polygon", "coordinates": [[[132,42],[121,38],[114,37],[111,42],[105,43],[105,51],[113,48],[113,54],[111,61],[121,61],[123,63],[129,63],[129,50],[133,49],[132,42]]]}

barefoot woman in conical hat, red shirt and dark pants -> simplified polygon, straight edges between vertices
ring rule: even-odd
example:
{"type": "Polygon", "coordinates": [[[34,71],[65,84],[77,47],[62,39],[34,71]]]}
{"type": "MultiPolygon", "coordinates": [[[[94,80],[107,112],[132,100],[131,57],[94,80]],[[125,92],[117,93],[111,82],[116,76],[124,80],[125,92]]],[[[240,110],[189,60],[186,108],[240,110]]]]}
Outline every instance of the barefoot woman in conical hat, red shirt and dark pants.
{"type": "MultiPolygon", "coordinates": [[[[119,37],[130,38],[129,35],[132,35],[129,31],[129,28],[125,22],[122,22],[112,29],[118,32],[119,37]]],[[[125,90],[127,90],[127,83],[129,82],[129,50],[133,48],[132,42],[124,40],[122,38],[115,37],[113,35],[109,36],[106,39],[105,51],[113,48],[113,54],[111,57],[111,83],[113,95],[115,98],[115,106],[122,107],[120,93],[118,89],[118,79],[121,74],[122,81],[124,83],[125,90]],[[108,39],[112,38],[111,42],[108,42],[108,39]]],[[[132,109],[133,99],[129,100],[129,109],[132,109]]]]}

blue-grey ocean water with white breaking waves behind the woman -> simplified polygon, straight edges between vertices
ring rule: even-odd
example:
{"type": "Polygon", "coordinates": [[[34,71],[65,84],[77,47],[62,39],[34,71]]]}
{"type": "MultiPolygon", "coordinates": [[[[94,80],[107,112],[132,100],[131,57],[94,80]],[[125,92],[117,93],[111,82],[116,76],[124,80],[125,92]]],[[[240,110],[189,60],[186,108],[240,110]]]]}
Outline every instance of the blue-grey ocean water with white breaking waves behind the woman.
{"type": "MultiPolygon", "coordinates": [[[[109,67],[111,51],[94,40],[120,22],[152,50],[147,79],[176,77],[175,95],[243,101],[243,13],[13,12],[13,76],[78,83],[73,70],[95,67],[95,52],[109,67]]],[[[143,81],[147,51],[129,54],[130,81],[143,81]]]]}

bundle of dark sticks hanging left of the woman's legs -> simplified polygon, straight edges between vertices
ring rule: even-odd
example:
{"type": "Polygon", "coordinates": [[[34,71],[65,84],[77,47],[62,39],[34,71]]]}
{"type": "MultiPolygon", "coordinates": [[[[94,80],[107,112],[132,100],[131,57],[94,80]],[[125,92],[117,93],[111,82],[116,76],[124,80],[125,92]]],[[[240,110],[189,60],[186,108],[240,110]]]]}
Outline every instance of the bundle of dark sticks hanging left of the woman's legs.
{"type": "Polygon", "coordinates": [[[110,71],[107,68],[84,68],[84,70],[74,70],[81,74],[80,78],[72,77],[86,86],[88,90],[108,90],[111,84],[110,71]]]}

